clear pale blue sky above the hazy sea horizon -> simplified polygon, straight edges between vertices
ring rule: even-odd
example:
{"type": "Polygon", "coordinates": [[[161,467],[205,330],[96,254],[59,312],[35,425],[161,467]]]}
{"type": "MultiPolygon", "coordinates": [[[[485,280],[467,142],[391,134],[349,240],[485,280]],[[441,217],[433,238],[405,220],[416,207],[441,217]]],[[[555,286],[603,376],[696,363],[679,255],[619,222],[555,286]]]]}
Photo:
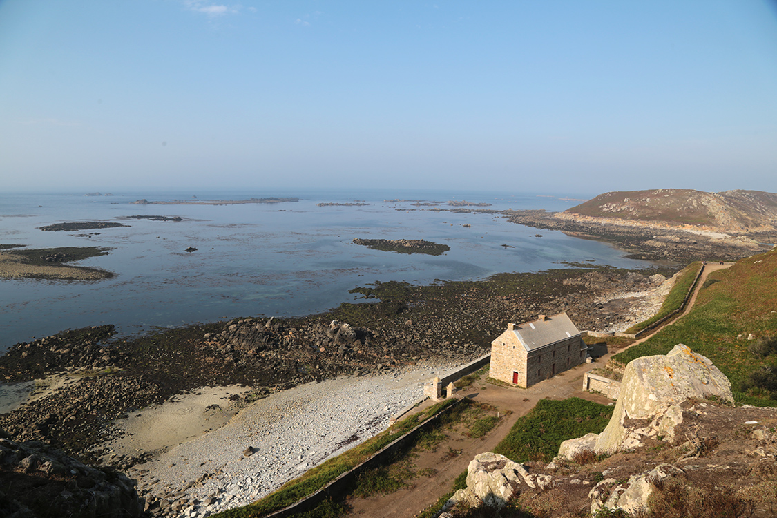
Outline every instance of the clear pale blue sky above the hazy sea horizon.
{"type": "Polygon", "coordinates": [[[0,0],[4,190],[777,191],[777,6],[0,0]]]}

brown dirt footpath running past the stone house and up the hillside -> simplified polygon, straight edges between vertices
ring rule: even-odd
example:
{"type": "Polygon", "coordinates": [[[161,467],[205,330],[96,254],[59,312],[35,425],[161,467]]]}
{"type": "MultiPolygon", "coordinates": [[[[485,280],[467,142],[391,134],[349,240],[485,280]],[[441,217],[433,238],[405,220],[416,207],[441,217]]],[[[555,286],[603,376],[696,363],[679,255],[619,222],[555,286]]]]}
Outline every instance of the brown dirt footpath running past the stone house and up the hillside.
{"type": "MultiPolygon", "coordinates": [[[[687,315],[693,308],[696,297],[702,286],[704,286],[709,273],[719,269],[729,268],[732,265],[733,262],[707,264],[702,276],[699,278],[699,282],[696,284],[692,296],[688,300],[685,311],[683,311],[681,315],[678,315],[676,318],[671,319],[671,321],[661,325],[649,335],[629,344],[629,346],[600,356],[594,363],[584,363],[571,370],[566,370],[563,373],[556,374],[555,377],[542,381],[530,388],[501,387],[486,383],[484,380],[475,381],[471,387],[463,388],[458,392],[460,397],[472,398],[475,402],[491,405],[497,408],[494,413],[500,412],[500,415],[504,415],[510,411],[512,413],[510,413],[510,415],[505,415],[500,419],[499,424],[482,439],[458,438],[456,440],[451,440],[448,438],[443,440],[434,452],[420,452],[418,457],[413,459],[414,466],[419,469],[433,466],[434,469],[437,470],[436,475],[432,477],[417,478],[413,480],[412,484],[408,487],[401,488],[398,491],[389,494],[379,494],[368,498],[349,499],[347,501],[350,506],[349,515],[384,516],[385,518],[413,518],[413,516],[417,516],[423,509],[427,509],[427,507],[437,502],[437,499],[439,499],[441,495],[450,491],[455,478],[467,469],[472,458],[477,454],[493,450],[500,440],[502,440],[504,436],[507,436],[507,433],[513,427],[517,419],[528,414],[540,399],[566,399],[577,397],[605,405],[611,403],[611,400],[605,398],[603,395],[593,394],[582,390],[583,374],[588,370],[591,370],[592,367],[603,367],[615,353],[620,353],[623,350],[628,349],[628,347],[635,346],[638,343],[650,339],[651,336],[667,327],[667,325],[672,325],[674,322],[677,322],[679,318],[687,315]],[[451,455],[448,454],[451,449],[460,450],[461,454],[451,457],[451,455]]],[[[431,402],[427,400],[424,405],[420,406],[420,409],[427,408],[430,404],[431,402]]]]}

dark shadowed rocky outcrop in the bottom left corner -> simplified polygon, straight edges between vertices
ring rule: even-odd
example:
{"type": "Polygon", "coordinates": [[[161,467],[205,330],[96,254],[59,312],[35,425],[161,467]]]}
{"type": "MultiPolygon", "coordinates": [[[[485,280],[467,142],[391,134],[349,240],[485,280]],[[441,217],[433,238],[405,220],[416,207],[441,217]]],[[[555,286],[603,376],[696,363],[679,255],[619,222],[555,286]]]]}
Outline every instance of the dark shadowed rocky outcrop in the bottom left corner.
{"type": "Polygon", "coordinates": [[[90,468],[42,443],[0,439],[0,514],[133,518],[143,502],[123,474],[90,468]]]}

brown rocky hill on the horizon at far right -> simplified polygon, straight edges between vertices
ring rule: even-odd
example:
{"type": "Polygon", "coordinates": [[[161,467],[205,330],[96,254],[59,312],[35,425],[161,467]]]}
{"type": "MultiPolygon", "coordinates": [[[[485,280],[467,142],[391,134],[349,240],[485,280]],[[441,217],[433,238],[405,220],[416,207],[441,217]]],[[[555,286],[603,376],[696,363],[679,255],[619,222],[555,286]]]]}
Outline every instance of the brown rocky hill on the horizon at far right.
{"type": "Polygon", "coordinates": [[[753,190],[704,193],[653,189],[604,193],[565,211],[589,217],[693,225],[726,233],[777,228],[777,194],[753,190]]]}

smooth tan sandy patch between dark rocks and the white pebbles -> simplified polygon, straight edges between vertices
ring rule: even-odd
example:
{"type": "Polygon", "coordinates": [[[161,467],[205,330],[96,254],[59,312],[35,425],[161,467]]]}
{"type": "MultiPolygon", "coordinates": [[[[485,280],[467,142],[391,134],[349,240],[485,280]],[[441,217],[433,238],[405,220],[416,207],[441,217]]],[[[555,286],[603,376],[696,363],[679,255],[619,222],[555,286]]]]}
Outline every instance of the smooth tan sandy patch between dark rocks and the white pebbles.
{"type": "Polygon", "coordinates": [[[171,447],[224,426],[237,412],[230,395],[242,395],[250,389],[242,385],[202,387],[191,394],[175,395],[162,405],[133,412],[115,423],[125,436],[108,447],[113,454],[137,454],[138,450],[160,454],[171,447]]]}

